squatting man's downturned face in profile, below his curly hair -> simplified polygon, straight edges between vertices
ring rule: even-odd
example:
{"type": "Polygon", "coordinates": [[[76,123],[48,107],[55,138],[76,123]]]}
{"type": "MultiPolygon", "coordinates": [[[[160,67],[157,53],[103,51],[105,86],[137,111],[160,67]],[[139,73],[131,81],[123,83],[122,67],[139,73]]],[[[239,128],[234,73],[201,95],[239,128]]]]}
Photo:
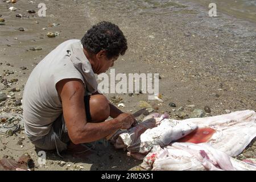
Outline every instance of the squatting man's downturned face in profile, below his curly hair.
{"type": "Polygon", "coordinates": [[[95,73],[99,75],[100,73],[105,73],[110,67],[113,67],[114,61],[118,59],[118,56],[108,59],[106,52],[102,52],[100,55],[96,55],[96,59],[98,59],[98,69],[95,73]]]}

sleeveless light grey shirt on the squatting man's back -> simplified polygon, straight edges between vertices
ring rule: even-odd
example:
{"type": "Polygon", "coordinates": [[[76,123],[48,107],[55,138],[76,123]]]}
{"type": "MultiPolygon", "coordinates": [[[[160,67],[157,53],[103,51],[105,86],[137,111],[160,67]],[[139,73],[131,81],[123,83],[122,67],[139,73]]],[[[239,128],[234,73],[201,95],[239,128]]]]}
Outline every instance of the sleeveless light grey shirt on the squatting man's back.
{"type": "MultiPolygon", "coordinates": [[[[97,90],[97,80],[80,40],[68,40],[50,52],[31,72],[23,92],[23,117],[27,133],[47,135],[63,110],[55,85],[66,78],[84,82],[86,93],[97,90]]],[[[85,93],[85,94],[86,94],[85,93]]]]}

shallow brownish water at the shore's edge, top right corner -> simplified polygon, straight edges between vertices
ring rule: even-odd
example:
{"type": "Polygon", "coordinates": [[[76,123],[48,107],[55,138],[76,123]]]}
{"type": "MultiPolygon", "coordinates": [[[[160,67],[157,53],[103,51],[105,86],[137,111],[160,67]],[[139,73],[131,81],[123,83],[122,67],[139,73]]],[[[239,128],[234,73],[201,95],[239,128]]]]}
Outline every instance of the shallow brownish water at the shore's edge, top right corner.
{"type": "MultiPolygon", "coordinates": [[[[206,10],[210,10],[209,3],[216,3],[217,15],[218,12],[223,12],[235,16],[236,18],[250,20],[256,23],[256,1],[255,0],[189,0],[189,1],[170,1],[170,0],[131,0],[131,1],[106,1],[102,3],[99,0],[92,0],[90,4],[95,6],[103,6],[101,9],[105,10],[106,6],[112,6],[113,9],[128,11],[135,15],[167,15],[171,12],[191,14],[195,13],[196,8],[192,11],[184,10],[182,2],[199,3],[204,6],[206,10]]],[[[196,5],[195,5],[196,6],[196,5]]]]}

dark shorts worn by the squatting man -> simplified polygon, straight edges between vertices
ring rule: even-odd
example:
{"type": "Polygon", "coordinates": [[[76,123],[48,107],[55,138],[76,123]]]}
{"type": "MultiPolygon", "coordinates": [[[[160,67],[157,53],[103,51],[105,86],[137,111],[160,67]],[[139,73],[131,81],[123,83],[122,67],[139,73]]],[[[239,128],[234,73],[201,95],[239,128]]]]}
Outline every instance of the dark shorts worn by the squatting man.
{"type": "MultiPolygon", "coordinates": [[[[89,100],[90,96],[84,96],[85,102],[85,113],[86,120],[90,122],[92,117],[90,115],[89,108],[89,100]]],[[[63,114],[61,114],[52,124],[51,130],[49,133],[43,137],[36,137],[27,133],[28,139],[30,139],[31,143],[42,150],[56,150],[59,156],[61,151],[67,150],[68,143],[71,141],[68,136],[68,130],[65,125],[65,120],[63,114]]]]}

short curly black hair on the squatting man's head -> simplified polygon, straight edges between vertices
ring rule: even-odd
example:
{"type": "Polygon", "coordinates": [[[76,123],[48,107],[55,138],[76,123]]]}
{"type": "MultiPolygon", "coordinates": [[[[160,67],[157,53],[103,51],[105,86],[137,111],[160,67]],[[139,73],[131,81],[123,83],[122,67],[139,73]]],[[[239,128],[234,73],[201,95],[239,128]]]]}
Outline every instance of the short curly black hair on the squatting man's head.
{"type": "Polygon", "coordinates": [[[127,40],[119,27],[111,22],[100,22],[86,32],[81,40],[82,46],[92,53],[106,50],[106,56],[111,59],[125,55],[127,40]]]}

